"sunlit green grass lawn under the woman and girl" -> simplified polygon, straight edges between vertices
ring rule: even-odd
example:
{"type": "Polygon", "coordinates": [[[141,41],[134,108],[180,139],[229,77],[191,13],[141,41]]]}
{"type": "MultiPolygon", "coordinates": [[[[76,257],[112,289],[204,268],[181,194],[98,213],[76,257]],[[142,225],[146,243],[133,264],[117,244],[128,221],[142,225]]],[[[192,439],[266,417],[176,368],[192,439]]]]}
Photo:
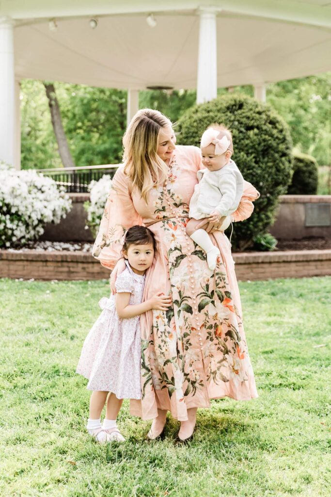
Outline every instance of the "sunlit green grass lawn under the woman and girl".
{"type": "Polygon", "coordinates": [[[331,496],[331,278],[240,289],[260,397],[212,401],[187,446],[173,419],[148,443],[125,403],[107,451],[75,374],[107,282],[0,280],[0,496],[331,496]]]}

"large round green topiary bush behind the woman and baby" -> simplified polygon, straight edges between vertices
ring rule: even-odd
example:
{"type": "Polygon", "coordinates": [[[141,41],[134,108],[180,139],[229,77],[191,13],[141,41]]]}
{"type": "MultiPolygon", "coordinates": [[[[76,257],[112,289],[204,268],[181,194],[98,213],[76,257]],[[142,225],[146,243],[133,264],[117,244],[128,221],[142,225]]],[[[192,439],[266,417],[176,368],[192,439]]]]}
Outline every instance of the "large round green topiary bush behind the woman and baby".
{"type": "Polygon", "coordinates": [[[269,105],[230,93],[187,110],[178,123],[178,143],[199,147],[203,131],[215,122],[232,131],[232,158],[244,178],[261,193],[252,216],[234,224],[232,246],[244,250],[255,236],[265,234],[278,196],[287,191],[292,176],[292,140],[286,123],[269,105]]]}

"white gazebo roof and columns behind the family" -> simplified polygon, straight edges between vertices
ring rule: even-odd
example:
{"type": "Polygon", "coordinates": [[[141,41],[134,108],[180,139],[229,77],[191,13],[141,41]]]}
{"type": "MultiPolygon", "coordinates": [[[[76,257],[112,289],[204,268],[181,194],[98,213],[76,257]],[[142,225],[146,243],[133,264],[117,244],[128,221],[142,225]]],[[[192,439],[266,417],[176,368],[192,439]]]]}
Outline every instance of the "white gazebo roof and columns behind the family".
{"type": "Polygon", "coordinates": [[[20,166],[23,78],[128,89],[265,84],[331,68],[327,0],[2,0],[0,160],[20,166]]]}

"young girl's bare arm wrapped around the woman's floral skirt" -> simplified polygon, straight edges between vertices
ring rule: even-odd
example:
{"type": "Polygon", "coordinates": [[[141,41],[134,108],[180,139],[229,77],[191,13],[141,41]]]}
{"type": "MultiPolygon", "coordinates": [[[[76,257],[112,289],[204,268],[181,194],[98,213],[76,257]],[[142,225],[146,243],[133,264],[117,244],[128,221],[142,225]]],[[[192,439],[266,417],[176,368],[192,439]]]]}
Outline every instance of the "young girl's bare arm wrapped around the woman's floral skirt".
{"type": "Polygon", "coordinates": [[[151,309],[167,311],[168,307],[171,306],[171,297],[164,294],[157,294],[155,297],[141,302],[141,304],[134,305],[129,304],[130,296],[131,293],[129,292],[120,292],[116,294],[116,311],[120,319],[134,318],[151,309]]]}

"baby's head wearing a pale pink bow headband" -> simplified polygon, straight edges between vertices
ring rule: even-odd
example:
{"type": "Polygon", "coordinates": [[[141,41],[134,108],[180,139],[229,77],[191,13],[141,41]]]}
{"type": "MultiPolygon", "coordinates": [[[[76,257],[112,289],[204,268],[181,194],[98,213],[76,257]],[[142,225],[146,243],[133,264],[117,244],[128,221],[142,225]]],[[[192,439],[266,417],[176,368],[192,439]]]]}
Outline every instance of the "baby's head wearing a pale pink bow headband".
{"type": "Polygon", "coordinates": [[[202,164],[209,171],[224,167],[233,153],[232,134],[223,124],[212,124],[201,137],[202,164]]]}

